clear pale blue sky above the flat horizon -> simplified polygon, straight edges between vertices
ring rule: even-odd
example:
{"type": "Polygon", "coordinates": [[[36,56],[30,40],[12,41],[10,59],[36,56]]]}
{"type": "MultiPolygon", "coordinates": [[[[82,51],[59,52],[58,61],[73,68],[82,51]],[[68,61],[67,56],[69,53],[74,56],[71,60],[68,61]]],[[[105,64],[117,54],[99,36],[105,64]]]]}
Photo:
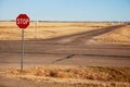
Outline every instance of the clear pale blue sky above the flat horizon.
{"type": "Polygon", "coordinates": [[[130,0],[0,0],[0,21],[21,13],[31,21],[130,22],[130,0]]]}

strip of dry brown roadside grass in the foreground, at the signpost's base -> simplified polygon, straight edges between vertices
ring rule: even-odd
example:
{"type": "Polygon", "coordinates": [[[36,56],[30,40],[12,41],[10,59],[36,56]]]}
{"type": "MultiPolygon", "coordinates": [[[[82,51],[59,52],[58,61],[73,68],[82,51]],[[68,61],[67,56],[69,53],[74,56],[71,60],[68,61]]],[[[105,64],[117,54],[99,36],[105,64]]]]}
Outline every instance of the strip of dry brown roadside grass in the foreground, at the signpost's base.
{"type": "Polygon", "coordinates": [[[2,75],[36,83],[63,84],[67,87],[129,87],[130,67],[34,66],[9,69],[2,75]]]}

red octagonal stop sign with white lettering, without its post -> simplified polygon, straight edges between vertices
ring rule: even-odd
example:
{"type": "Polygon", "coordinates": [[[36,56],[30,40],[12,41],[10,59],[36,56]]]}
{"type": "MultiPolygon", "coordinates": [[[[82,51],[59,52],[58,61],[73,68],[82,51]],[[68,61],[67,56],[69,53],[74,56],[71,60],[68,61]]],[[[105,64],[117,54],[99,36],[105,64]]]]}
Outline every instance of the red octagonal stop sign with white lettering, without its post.
{"type": "Polygon", "coordinates": [[[25,29],[29,25],[29,17],[27,16],[27,14],[20,14],[16,17],[16,25],[20,28],[25,29]]]}

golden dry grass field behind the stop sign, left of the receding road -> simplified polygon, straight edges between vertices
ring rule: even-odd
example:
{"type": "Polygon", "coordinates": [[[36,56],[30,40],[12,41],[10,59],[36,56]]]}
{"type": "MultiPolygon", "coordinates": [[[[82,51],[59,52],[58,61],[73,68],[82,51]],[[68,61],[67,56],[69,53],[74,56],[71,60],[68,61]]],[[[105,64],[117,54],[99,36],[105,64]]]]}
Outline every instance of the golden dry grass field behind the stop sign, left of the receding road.
{"type": "MultiPolygon", "coordinates": [[[[54,23],[31,22],[25,30],[25,40],[49,39],[65,35],[83,33],[109,26],[110,23],[54,23]]],[[[0,22],[0,40],[21,40],[21,29],[15,22],[0,22]]]]}

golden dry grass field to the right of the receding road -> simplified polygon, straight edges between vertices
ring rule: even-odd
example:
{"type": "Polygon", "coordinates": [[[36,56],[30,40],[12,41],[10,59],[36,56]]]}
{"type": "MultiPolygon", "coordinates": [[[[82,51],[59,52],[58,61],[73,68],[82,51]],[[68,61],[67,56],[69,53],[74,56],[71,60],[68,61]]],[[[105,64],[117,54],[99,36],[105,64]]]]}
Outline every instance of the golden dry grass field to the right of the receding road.
{"type": "Polygon", "coordinates": [[[99,42],[105,44],[130,45],[130,25],[126,25],[125,27],[115,29],[114,32],[98,36],[95,39],[99,42]]]}

